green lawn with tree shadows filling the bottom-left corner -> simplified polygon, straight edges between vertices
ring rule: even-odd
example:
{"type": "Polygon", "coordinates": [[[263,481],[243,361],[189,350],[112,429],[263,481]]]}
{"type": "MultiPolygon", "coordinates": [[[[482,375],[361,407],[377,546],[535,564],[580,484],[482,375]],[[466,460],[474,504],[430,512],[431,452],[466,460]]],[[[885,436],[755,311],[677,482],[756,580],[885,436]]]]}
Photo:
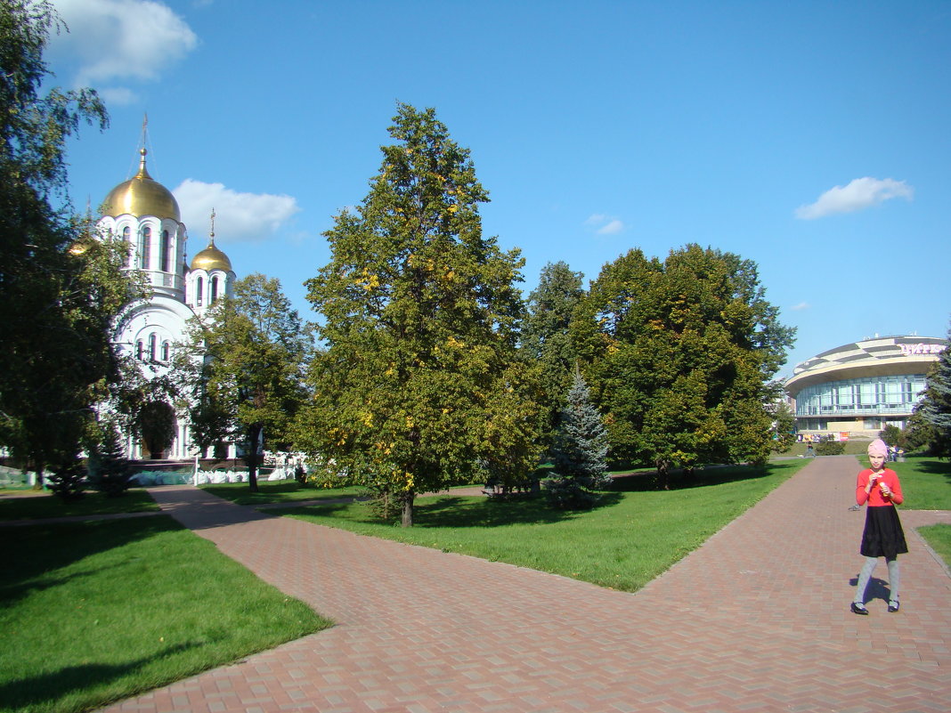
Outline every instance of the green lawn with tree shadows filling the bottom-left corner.
{"type": "Polygon", "coordinates": [[[329,626],[166,516],[2,532],[4,713],[101,707],[329,626]]]}

